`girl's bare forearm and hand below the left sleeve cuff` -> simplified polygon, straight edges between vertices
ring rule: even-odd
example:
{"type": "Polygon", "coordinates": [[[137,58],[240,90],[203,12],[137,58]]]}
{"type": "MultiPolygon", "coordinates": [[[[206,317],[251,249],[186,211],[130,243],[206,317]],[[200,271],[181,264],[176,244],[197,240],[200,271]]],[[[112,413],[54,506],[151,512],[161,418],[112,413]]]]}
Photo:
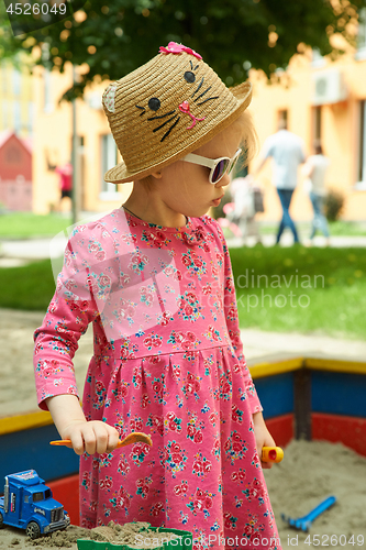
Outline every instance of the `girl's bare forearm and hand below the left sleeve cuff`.
{"type": "Polygon", "coordinates": [[[87,421],[75,395],[56,395],[45,400],[62,439],[70,439],[76,454],[110,452],[119,442],[119,432],[99,420],[87,421]]]}

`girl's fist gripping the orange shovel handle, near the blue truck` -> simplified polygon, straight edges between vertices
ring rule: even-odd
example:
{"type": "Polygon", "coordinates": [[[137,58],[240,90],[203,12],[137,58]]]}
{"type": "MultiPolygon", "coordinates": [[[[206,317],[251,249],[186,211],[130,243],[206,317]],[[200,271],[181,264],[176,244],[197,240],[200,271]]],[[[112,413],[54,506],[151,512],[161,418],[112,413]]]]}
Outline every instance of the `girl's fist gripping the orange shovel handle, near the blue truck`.
{"type": "Polygon", "coordinates": [[[113,451],[119,442],[120,435],[115,428],[99,420],[73,421],[62,432],[63,439],[70,439],[76,454],[102,454],[113,451]]]}

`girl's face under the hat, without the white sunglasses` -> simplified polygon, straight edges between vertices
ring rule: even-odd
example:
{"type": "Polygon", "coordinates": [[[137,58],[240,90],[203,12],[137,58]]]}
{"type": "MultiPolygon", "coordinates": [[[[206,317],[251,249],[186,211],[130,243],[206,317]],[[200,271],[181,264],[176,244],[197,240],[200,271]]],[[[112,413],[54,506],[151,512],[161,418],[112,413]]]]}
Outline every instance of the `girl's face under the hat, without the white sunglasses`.
{"type": "MultiPolygon", "coordinates": [[[[241,142],[241,123],[235,121],[228,129],[215,135],[210,142],[193,151],[195,154],[208,158],[226,156],[232,158],[241,142]]],[[[199,218],[210,207],[219,206],[230,184],[225,174],[217,184],[209,182],[210,168],[197,164],[177,161],[163,168],[156,177],[155,190],[165,207],[173,212],[199,218]]]]}

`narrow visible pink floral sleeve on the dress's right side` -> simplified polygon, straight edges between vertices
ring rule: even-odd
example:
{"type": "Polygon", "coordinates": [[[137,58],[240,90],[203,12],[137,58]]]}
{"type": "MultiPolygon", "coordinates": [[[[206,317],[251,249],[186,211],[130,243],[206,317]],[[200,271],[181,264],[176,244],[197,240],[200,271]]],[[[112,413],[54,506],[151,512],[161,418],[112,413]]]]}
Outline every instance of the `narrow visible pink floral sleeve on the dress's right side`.
{"type": "Polygon", "coordinates": [[[218,228],[220,232],[220,239],[223,243],[223,253],[224,253],[224,310],[225,310],[225,319],[228,332],[235,351],[235,355],[239,360],[239,363],[242,367],[243,377],[245,382],[245,389],[247,398],[249,399],[252,415],[254,413],[259,413],[263,410],[260,405],[257,392],[254,386],[254,382],[252,380],[251,372],[246,365],[246,361],[243,353],[243,343],[241,339],[241,331],[239,328],[239,317],[237,317],[237,305],[236,305],[236,296],[235,296],[235,286],[233,279],[233,272],[231,266],[231,260],[229,255],[228,245],[225,242],[225,238],[221,231],[221,228],[218,228]]]}

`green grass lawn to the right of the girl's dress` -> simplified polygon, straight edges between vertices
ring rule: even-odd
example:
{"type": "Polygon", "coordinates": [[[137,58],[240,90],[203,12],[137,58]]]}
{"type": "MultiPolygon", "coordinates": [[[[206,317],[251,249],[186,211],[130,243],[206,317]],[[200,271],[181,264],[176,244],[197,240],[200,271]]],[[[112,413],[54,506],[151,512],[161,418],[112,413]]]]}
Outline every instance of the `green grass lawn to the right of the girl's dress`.
{"type": "Polygon", "coordinates": [[[242,328],[365,338],[363,249],[255,246],[230,253],[242,328]]]}

